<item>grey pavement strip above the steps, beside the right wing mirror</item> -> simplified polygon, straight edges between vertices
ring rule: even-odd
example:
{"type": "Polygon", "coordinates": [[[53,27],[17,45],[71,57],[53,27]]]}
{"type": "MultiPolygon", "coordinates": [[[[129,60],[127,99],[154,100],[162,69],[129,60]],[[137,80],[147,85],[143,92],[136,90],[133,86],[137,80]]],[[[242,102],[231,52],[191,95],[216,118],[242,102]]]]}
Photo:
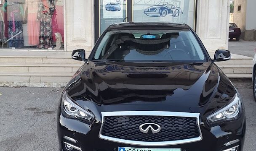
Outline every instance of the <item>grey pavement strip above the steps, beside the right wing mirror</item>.
{"type": "Polygon", "coordinates": [[[229,40],[228,50],[237,55],[244,55],[247,57],[253,57],[256,49],[256,41],[248,42],[240,39],[236,41],[235,39],[229,40]]]}

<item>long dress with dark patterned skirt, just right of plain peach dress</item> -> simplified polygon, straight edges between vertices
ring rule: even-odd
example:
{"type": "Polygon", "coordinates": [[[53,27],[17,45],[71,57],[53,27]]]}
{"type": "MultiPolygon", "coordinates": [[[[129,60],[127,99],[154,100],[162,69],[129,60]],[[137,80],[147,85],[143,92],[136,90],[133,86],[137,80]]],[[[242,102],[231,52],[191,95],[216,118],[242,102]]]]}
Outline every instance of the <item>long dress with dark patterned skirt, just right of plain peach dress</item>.
{"type": "Polygon", "coordinates": [[[52,14],[49,13],[49,8],[54,7],[47,0],[41,0],[38,8],[37,19],[40,21],[40,34],[38,48],[48,49],[53,48],[52,45],[52,14]]]}

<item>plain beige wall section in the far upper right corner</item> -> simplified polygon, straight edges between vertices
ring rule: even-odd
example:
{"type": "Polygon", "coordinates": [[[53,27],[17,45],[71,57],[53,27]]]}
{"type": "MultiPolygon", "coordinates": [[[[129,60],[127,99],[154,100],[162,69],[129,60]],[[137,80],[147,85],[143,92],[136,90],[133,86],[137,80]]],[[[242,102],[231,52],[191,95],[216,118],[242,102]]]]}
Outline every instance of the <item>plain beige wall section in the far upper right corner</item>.
{"type": "Polygon", "coordinates": [[[246,30],[256,29],[256,0],[247,0],[246,30]]]}

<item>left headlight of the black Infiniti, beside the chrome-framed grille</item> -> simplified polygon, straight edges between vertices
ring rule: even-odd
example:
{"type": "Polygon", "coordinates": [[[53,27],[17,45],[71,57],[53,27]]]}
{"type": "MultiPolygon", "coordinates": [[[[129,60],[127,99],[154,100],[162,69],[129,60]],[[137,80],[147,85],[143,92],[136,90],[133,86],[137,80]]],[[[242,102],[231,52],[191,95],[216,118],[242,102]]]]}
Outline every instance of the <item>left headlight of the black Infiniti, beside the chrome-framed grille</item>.
{"type": "Polygon", "coordinates": [[[94,119],[94,115],[82,107],[80,107],[78,104],[72,101],[70,96],[65,91],[62,96],[62,107],[64,112],[70,117],[70,118],[76,118],[80,120],[86,120],[88,122],[92,122],[94,119]]]}

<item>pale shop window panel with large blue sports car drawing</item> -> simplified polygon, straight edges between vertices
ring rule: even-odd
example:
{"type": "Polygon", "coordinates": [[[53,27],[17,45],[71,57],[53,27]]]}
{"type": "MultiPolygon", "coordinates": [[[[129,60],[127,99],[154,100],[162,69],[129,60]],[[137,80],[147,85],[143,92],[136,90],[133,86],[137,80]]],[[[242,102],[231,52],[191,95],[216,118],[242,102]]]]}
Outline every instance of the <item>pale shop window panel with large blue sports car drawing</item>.
{"type": "Polygon", "coordinates": [[[133,21],[195,23],[195,0],[133,0],[133,21]]]}

